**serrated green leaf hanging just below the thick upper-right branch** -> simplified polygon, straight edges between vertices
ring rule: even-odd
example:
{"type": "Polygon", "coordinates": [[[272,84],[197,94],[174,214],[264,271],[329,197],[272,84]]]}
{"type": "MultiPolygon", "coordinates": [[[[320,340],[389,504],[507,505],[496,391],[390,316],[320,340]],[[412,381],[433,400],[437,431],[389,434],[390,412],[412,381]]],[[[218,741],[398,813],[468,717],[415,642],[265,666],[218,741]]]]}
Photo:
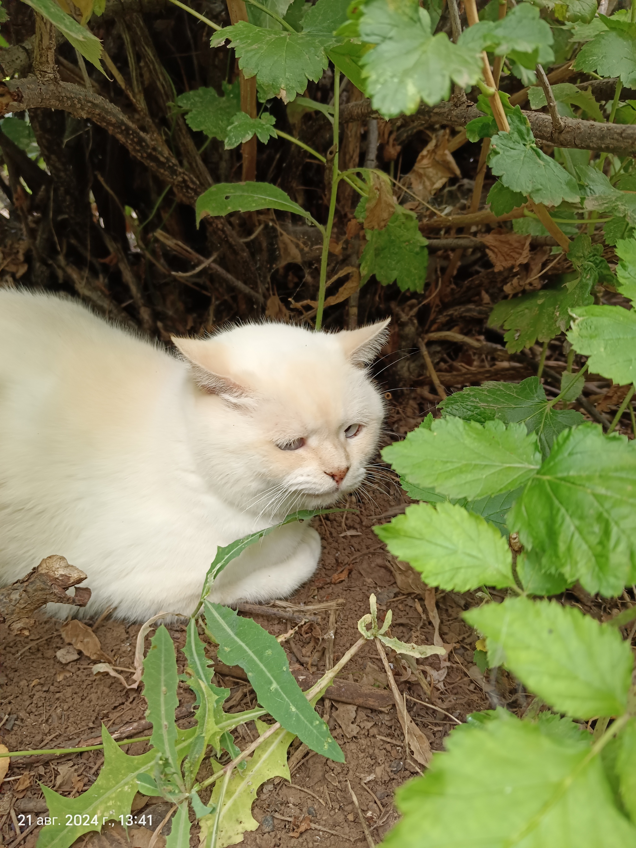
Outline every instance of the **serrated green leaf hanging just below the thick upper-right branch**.
{"type": "Polygon", "coordinates": [[[498,132],[491,145],[488,165],[511,191],[546,206],[558,206],[563,200],[578,203],[574,177],[537,147],[529,126],[510,125],[510,132],[498,132]]]}

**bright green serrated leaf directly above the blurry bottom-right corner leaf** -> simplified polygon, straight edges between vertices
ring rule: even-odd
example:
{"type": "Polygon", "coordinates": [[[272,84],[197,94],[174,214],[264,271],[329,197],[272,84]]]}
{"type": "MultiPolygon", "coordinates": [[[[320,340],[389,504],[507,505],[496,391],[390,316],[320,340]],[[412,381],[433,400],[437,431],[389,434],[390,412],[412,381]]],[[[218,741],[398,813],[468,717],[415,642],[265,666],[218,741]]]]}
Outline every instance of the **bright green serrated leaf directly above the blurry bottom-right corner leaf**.
{"type": "Polygon", "coordinates": [[[509,598],[464,613],[503,649],[505,666],[557,712],[575,718],[621,716],[628,706],[633,656],[609,624],[555,601],[509,598]],[[530,638],[528,638],[530,637],[530,638]]]}

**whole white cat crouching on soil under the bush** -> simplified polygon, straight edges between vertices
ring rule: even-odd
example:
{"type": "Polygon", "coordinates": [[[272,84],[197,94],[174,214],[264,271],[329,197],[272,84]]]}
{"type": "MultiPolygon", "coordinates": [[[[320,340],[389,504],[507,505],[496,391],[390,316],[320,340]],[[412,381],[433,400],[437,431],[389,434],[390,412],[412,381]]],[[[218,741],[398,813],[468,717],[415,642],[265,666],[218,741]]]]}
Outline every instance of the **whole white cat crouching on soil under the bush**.
{"type": "MultiPolygon", "coordinates": [[[[387,324],[247,324],[175,338],[181,360],[76,302],[0,292],[0,582],[61,554],[87,574],[82,616],[189,615],[217,545],[362,482],[387,324]]],[[[210,600],[281,598],[320,553],[309,522],[281,527],[210,600]]]]}

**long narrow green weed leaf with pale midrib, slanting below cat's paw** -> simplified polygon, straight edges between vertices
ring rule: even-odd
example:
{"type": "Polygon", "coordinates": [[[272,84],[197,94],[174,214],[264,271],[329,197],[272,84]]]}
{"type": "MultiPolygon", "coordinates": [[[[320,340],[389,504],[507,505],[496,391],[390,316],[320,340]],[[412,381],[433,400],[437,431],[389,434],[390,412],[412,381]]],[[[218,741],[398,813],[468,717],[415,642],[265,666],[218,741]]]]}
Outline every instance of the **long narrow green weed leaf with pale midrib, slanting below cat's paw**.
{"type": "Polygon", "coordinates": [[[312,750],[343,762],[343,752],[333,741],[329,728],[292,677],[287,656],[276,637],[251,618],[237,616],[235,610],[226,606],[206,600],[204,608],[209,631],[219,643],[218,656],[227,665],[245,669],[259,704],[312,750]]]}

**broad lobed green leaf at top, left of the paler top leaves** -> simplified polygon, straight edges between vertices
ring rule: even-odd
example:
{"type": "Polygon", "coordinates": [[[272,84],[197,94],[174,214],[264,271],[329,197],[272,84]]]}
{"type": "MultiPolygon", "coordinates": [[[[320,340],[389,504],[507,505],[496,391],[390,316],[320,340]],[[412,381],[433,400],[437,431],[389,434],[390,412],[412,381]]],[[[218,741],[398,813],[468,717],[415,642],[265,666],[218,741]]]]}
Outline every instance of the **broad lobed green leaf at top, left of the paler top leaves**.
{"type": "Polygon", "coordinates": [[[325,48],[338,42],[335,36],[308,31],[308,15],[303,32],[262,30],[239,20],[218,31],[210,44],[218,47],[231,39],[230,47],[237,54],[239,68],[247,78],[256,77],[262,96],[280,97],[288,103],[304,92],[309,80],[320,80],[329,64],[325,48]]]}

